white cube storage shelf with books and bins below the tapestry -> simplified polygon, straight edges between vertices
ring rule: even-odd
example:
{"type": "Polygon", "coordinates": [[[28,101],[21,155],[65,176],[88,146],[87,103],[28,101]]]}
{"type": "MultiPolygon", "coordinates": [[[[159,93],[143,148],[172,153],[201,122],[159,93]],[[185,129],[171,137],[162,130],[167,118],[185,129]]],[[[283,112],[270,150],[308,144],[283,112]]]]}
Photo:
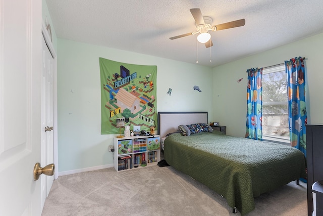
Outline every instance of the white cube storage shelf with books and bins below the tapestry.
{"type": "Polygon", "coordinates": [[[114,140],[116,171],[157,165],[160,161],[160,136],[133,136],[114,140]]]}

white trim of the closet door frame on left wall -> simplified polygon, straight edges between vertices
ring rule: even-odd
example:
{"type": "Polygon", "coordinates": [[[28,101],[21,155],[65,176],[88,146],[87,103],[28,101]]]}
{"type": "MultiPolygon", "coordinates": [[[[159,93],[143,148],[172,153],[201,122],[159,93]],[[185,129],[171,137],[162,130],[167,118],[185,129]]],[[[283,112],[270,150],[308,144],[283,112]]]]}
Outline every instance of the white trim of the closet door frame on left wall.
{"type": "Polygon", "coordinates": [[[41,33],[44,36],[47,47],[54,59],[54,71],[53,71],[53,138],[54,138],[54,164],[55,164],[55,172],[54,179],[59,177],[59,169],[58,169],[58,116],[57,116],[57,56],[55,49],[52,45],[51,38],[46,30],[44,24],[41,26],[41,33]]]}

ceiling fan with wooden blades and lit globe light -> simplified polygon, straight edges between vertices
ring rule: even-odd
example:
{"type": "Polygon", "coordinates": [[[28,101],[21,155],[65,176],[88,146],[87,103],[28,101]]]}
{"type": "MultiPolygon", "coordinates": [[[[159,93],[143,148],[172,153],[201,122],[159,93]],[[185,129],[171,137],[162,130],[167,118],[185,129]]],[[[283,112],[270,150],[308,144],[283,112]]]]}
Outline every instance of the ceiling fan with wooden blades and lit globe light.
{"type": "Polygon", "coordinates": [[[240,26],[244,26],[244,24],[246,23],[245,19],[241,19],[241,20],[236,20],[236,21],[212,26],[211,25],[212,18],[203,17],[201,10],[199,8],[192,8],[190,9],[190,12],[193,15],[193,18],[196,22],[196,31],[186,33],[186,34],[181,34],[175,37],[170,37],[171,40],[199,33],[199,35],[197,36],[197,40],[201,43],[205,43],[206,48],[208,48],[213,45],[211,40],[211,35],[208,33],[208,31],[219,31],[219,30],[228,29],[228,28],[240,27],[240,26]]]}

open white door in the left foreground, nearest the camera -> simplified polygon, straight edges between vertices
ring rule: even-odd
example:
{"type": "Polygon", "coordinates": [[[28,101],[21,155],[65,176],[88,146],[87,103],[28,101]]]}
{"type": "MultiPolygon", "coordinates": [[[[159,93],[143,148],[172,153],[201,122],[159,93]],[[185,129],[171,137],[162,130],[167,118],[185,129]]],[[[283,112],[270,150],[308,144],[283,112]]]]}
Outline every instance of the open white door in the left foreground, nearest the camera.
{"type": "Polygon", "coordinates": [[[41,214],[41,19],[41,0],[0,0],[0,215],[41,214]]]}

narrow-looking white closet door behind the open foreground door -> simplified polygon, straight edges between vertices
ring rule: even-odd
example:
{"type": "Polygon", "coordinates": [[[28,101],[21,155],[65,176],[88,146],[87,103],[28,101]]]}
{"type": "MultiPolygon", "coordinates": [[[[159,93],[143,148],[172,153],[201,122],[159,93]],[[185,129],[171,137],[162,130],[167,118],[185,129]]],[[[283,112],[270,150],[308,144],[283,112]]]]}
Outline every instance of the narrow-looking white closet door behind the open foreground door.
{"type": "MultiPolygon", "coordinates": [[[[48,165],[54,163],[53,146],[53,74],[54,59],[42,37],[42,89],[41,89],[41,163],[48,165]],[[46,130],[45,130],[46,128],[46,130]]],[[[45,203],[54,176],[41,177],[41,206],[45,203]]]]}

